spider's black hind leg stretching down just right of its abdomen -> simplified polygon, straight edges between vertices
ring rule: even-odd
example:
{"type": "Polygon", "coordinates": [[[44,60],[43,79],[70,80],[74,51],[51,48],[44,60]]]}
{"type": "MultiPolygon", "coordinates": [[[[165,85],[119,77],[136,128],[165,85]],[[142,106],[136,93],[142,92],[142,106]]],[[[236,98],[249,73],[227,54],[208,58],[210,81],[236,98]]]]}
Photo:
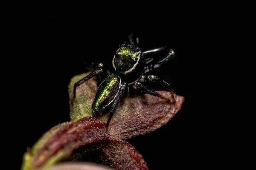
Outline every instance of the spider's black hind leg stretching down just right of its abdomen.
{"type": "Polygon", "coordinates": [[[116,96],[116,99],[115,99],[115,101],[114,101],[114,103],[113,103],[113,105],[112,105],[111,111],[109,112],[108,122],[107,122],[107,125],[106,125],[106,127],[105,127],[105,130],[104,130],[102,136],[104,136],[105,133],[108,131],[109,123],[110,123],[110,121],[111,121],[111,118],[112,118],[112,116],[113,116],[113,113],[116,111],[116,108],[117,108],[117,106],[118,106],[118,104],[119,104],[120,99],[122,98],[122,96],[123,96],[123,94],[124,94],[124,92],[125,92],[125,87],[126,87],[126,86],[127,86],[127,84],[123,82],[122,85],[121,85],[121,88],[120,88],[120,90],[119,90],[119,92],[118,92],[118,95],[116,96]]]}

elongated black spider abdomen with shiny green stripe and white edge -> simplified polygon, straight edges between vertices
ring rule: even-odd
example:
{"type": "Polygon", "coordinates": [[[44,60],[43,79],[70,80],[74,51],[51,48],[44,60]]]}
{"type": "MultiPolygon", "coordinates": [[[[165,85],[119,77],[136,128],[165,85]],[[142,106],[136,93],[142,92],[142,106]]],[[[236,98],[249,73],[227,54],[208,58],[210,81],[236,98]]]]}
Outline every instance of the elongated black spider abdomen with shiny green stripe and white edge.
{"type": "Polygon", "coordinates": [[[120,86],[121,79],[116,75],[110,75],[102,81],[93,100],[93,115],[102,112],[114,101],[119,92],[120,86]]]}

